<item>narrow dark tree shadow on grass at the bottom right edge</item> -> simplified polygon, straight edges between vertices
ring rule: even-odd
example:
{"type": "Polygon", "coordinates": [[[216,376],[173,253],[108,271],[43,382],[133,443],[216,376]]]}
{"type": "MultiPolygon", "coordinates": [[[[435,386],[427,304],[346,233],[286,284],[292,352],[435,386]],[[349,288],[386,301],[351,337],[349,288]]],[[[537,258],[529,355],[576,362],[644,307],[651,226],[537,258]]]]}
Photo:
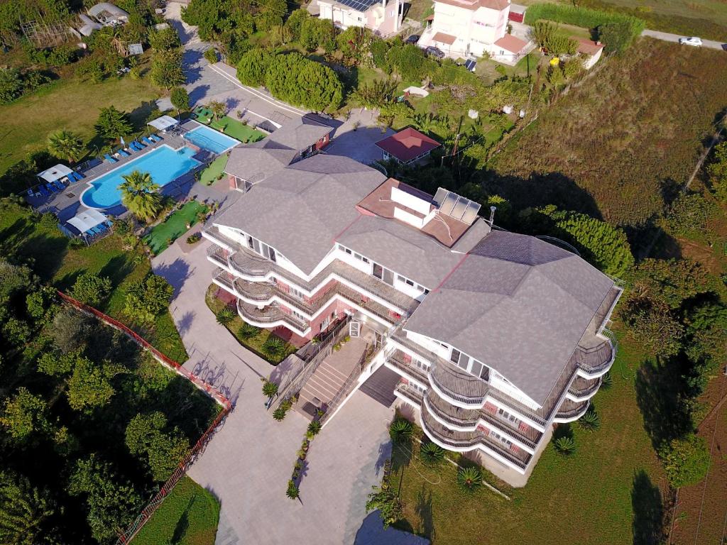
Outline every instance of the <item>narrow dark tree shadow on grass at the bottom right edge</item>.
{"type": "Polygon", "coordinates": [[[659,545],[664,539],[664,506],[659,487],[643,469],[635,472],[631,487],[634,545],[659,545]]]}

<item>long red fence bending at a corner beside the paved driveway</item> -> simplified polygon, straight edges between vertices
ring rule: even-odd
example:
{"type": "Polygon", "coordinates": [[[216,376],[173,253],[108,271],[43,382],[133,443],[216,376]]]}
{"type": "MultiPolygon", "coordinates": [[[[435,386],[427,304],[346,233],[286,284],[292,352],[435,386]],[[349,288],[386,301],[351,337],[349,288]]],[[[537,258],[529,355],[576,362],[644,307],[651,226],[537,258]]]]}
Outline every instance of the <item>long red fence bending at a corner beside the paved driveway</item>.
{"type": "Polygon", "coordinates": [[[182,367],[180,363],[172,360],[172,358],[166,357],[166,355],[156,350],[156,348],[154,348],[146,339],[137,334],[135,331],[132,331],[132,329],[128,328],[127,326],[124,326],[124,324],[119,322],[119,320],[114,320],[113,318],[111,318],[111,316],[105,315],[100,310],[89,307],[89,305],[73,299],[73,297],[64,294],[62,291],[58,291],[57,293],[64,302],[71,304],[71,306],[76,307],[76,309],[84,312],[84,314],[93,316],[98,320],[101,320],[106,325],[111,326],[112,328],[126,334],[126,336],[128,336],[129,339],[132,339],[132,341],[138,344],[142,348],[142,350],[150,352],[153,358],[156,359],[159,363],[171,369],[175,373],[185,377],[185,379],[188,379],[192,384],[205,392],[206,395],[209,395],[209,397],[212,397],[213,400],[222,405],[222,411],[217,414],[217,417],[214,419],[212,424],[209,425],[209,427],[197,440],[197,443],[195,443],[195,445],[187,453],[187,456],[185,456],[184,459],[180,461],[177,469],[174,470],[172,476],[169,477],[166,483],[164,483],[164,485],[159,489],[158,493],[156,493],[156,496],[154,496],[149,504],[145,506],[144,509],[142,509],[142,512],[139,514],[136,520],[134,520],[132,525],[129,525],[129,528],[126,528],[126,530],[123,531],[119,531],[119,539],[116,541],[116,545],[126,545],[129,543],[129,541],[132,541],[137,533],[139,533],[139,530],[141,530],[141,528],[146,524],[146,522],[150,519],[151,515],[156,511],[156,509],[158,509],[158,506],[161,505],[166,496],[168,496],[169,493],[172,491],[174,486],[177,485],[182,477],[187,474],[188,469],[192,466],[199,454],[204,451],[204,448],[206,447],[207,443],[209,443],[209,440],[212,439],[212,435],[214,435],[214,432],[216,432],[217,429],[222,426],[225,417],[228,416],[230,411],[232,411],[233,405],[232,403],[230,403],[230,400],[228,400],[228,398],[224,394],[222,394],[222,392],[220,392],[220,390],[218,390],[211,384],[207,384],[206,382],[204,382],[204,380],[200,379],[198,376],[182,367]]]}

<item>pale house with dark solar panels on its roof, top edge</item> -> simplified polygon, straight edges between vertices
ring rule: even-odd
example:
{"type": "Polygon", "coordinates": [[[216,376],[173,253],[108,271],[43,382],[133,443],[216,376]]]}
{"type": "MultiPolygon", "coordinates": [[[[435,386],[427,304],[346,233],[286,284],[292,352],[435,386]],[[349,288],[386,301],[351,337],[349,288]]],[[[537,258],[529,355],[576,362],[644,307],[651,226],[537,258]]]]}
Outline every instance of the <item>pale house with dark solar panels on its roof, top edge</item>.
{"type": "Polygon", "coordinates": [[[389,36],[401,28],[404,3],[401,0],[318,0],[319,17],[338,28],[350,26],[371,29],[377,36],[389,36]]]}

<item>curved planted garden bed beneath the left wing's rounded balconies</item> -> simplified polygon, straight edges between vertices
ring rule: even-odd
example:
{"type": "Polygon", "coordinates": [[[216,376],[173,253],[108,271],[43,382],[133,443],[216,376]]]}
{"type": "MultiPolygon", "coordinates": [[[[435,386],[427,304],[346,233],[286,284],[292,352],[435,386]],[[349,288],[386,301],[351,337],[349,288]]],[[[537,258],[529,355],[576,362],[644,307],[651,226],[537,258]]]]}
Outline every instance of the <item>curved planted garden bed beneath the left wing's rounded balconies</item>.
{"type": "MultiPolygon", "coordinates": [[[[259,355],[260,358],[267,360],[273,366],[278,365],[290,354],[296,352],[296,347],[271,331],[246,323],[240,318],[237,310],[229,306],[228,301],[217,296],[217,292],[220,290],[224,292],[217,284],[211,284],[207,288],[204,301],[209,310],[217,316],[217,322],[228,328],[228,331],[233,334],[240,344],[259,355]]],[[[228,294],[228,299],[234,299],[234,297],[228,294]]]]}

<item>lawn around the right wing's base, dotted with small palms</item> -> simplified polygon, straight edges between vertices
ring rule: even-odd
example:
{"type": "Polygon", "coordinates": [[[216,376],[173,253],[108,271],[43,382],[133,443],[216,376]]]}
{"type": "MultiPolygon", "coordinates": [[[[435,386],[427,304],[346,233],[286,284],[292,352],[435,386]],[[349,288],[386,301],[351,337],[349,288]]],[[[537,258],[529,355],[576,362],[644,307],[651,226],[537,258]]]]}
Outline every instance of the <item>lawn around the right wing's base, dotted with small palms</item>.
{"type": "MultiPolygon", "coordinates": [[[[640,543],[633,531],[656,523],[664,483],[636,401],[642,359],[638,347],[622,342],[613,384],[593,402],[600,429],[589,433],[571,424],[574,455],[563,457],[548,445],[526,487],[497,484],[512,501],[484,488],[464,493],[451,464],[428,469],[416,457],[407,464],[406,451],[395,449],[392,485],[401,482],[405,503],[405,520],[397,526],[434,537],[437,545],[640,543]]],[[[492,475],[486,478],[495,483],[492,475]]]]}

